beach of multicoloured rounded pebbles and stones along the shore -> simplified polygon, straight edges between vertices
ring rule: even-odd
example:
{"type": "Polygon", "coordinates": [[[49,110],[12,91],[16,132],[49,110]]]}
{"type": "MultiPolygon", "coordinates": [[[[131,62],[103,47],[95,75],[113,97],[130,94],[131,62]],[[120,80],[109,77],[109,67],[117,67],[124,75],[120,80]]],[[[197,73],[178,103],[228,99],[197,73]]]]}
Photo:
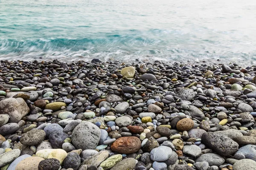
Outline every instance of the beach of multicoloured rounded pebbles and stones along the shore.
{"type": "Polygon", "coordinates": [[[256,65],[0,61],[0,170],[256,170],[256,65]]]}

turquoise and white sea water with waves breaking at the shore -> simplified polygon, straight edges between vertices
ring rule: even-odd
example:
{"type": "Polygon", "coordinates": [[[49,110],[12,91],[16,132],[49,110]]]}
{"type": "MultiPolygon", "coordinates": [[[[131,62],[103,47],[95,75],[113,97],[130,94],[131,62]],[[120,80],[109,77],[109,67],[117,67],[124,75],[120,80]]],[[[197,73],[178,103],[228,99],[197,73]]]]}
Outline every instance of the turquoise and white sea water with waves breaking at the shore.
{"type": "Polygon", "coordinates": [[[0,59],[256,61],[256,0],[0,0],[0,59]]]}

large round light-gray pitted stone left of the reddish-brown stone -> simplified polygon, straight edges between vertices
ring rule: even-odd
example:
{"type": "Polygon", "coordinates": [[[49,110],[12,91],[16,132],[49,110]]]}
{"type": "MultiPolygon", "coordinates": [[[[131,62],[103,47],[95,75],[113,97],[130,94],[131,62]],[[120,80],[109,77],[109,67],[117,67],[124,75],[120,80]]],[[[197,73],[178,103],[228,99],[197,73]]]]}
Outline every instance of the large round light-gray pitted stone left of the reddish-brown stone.
{"type": "Polygon", "coordinates": [[[77,149],[95,149],[101,132],[98,126],[90,122],[81,122],[72,133],[72,143],[77,149]]]}

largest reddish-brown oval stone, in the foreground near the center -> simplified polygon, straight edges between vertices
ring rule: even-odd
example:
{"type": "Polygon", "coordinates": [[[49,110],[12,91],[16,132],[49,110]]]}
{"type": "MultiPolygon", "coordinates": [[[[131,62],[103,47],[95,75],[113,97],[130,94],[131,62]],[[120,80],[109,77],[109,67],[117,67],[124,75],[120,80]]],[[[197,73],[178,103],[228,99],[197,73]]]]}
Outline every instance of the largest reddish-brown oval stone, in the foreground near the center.
{"type": "Polygon", "coordinates": [[[111,145],[111,150],[118,153],[136,153],[141,146],[140,139],[135,136],[121,137],[111,145]]]}

